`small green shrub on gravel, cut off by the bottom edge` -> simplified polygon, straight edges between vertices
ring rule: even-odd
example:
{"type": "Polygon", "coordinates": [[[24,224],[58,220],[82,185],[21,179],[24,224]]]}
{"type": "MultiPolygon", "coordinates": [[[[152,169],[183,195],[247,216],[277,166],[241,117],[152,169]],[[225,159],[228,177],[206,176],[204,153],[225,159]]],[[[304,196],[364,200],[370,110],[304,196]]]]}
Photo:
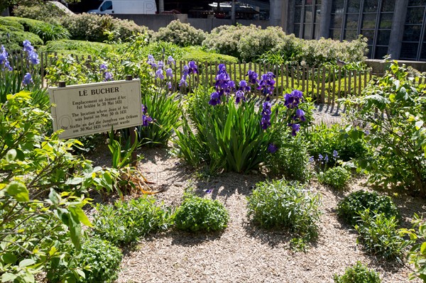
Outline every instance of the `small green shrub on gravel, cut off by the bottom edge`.
{"type": "Polygon", "coordinates": [[[333,275],[334,283],[381,283],[378,273],[361,262],[346,268],[343,275],[333,275]]]}

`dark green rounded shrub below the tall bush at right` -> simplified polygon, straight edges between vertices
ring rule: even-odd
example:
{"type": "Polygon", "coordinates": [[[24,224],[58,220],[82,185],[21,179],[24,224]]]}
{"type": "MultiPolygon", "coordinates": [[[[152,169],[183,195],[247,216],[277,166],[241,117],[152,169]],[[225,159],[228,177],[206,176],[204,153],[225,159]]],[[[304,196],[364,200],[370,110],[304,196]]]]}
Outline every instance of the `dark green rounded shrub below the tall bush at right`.
{"type": "Polygon", "coordinates": [[[380,196],[376,192],[356,191],[337,204],[337,214],[352,226],[356,225],[359,213],[366,209],[374,213],[383,213],[387,218],[399,217],[398,209],[389,196],[380,196]]]}

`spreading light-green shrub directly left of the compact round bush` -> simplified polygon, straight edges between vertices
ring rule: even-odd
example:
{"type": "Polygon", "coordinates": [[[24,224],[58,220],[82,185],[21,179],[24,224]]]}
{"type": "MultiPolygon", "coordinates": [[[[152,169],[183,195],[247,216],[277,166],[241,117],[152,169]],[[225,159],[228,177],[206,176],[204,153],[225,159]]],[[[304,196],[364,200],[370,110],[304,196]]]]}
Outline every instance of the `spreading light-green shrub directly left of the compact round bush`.
{"type": "Polygon", "coordinates": [[[132,243],[140,236],[168,228],[169,211],[155,205],[152,197],[97,204],[94,233],[114,245],[132,243]]]}

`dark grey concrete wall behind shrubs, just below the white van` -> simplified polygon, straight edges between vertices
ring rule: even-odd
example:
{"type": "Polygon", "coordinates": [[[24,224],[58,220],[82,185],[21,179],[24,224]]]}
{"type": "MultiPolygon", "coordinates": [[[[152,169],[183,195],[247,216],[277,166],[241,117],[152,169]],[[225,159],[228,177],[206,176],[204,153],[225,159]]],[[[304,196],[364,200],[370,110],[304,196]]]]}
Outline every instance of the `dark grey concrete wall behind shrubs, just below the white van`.
{"type": "Polygon", "coordinates": [[[167,26],[171,21],[180,20],[182,23],[188,22],[188,15],[181,14],[161,14],[161,15],[141,15],[141,14],[114,14],[114,17],[134,21],[138,26],[146,26],[150,30],[158,31],[159,28],[167,26]]]}

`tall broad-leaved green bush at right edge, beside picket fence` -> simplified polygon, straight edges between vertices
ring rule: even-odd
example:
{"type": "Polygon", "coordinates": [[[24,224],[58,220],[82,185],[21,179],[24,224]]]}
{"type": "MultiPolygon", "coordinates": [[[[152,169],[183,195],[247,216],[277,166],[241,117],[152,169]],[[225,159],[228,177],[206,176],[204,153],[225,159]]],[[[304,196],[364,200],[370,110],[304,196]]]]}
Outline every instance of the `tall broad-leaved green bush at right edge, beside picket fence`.
{"type": "Polygon", "coordinates": [[[373,155],[356,162],[368,173],[368,181],[426,196],[425,85],[417,85],[405,67],[393,62],[364,96],[346,99],[345,104],[350,117],[370,131],[365,139],[373,155]]]}

